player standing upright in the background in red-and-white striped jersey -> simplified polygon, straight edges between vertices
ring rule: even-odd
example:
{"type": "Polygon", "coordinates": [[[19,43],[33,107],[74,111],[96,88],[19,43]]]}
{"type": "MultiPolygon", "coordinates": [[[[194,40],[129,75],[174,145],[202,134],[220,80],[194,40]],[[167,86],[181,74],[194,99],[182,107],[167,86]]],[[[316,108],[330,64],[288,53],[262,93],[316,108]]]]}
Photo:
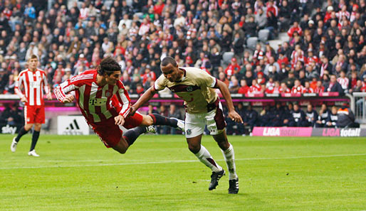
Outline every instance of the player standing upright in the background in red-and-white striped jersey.
{"type": "Polygon", "coordinates": [[[26,124],[20,129],[18,136],[14,137],[10,146],[11,151],[15,152],[21,136],[28,133],[34,124],[31,149],[29,150],[28,155],[35,157],[38,157],[38,154],[34,148],[36,148],[41,125],[45,122],[43,90],[46,92],[47,99],[52,99],[46,72],[37,69],[37,66],[37,56],[31,55],[28,59],[28,69],[21,71],[18,80],[16,81],[14,90],[21,98],[21,102],[25,104],[24,118],[26,124]],[[21,87],[23,87],[23,92],[21,91],[21,87]]]}

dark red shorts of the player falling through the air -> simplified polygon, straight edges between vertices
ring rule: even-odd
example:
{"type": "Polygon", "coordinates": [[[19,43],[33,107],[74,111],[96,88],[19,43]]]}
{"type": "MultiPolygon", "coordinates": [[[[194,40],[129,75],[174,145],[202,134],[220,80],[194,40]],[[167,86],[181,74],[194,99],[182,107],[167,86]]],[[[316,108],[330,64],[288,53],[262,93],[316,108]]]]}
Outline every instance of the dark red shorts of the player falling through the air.
{"type": "MultiPolygon", "coordinates": [[[[125,119],[125,124],[123,124],[123,126],[126,129],[132,129],[136,126],[140,126],[142,119],[143,117],[141,114],[135,113],[133,116],[125,119]]],[[[111,117],[106,121],[94,122],[90,125],[106,147],[110,148],[116,146],[118,142],[120,142],[122,130],[120,129],[120,126],[115,124],[114,117],[111,117]]]]}

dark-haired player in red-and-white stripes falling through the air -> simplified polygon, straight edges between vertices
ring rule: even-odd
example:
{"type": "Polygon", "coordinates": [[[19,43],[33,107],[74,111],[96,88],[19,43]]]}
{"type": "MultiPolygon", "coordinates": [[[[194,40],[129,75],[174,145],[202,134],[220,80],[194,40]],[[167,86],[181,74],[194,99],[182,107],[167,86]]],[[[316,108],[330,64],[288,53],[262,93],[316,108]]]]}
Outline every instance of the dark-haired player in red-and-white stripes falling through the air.
{"type": "Polygon", "coordinates": [[[60,102],[76,101],[85,120],[106,147],[125,153],[140,134],[155,133],[152,124],[184,130],[184,121],[159,114],[130,114],[130,97],[120,81],[121,67],[111,57],[104,58],[97,70],[86,70],[56,87],[60,102]],[[75,91],[73,94],[68,94],[75,91]],[[119,126],[128,130],[122,136],[119,126]]]}

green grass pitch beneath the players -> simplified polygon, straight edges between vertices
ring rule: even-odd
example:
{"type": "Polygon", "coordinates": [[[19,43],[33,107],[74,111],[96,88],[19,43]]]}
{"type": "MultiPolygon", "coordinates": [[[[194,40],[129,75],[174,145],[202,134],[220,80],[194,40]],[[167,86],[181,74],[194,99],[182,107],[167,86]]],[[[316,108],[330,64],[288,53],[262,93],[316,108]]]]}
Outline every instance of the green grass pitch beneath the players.
{"type": "MultiPolygon", "coordinates": [[[[0,210],[366,210],[365,138],[229,136],[239,174],[209,191],[211,172],[184,136],[140,136],[122,155],[93,136],[31,135],[11,153],[0,136],[0,210]]],[[[202,144],[226,169],[219,147],[202,144]]]]}

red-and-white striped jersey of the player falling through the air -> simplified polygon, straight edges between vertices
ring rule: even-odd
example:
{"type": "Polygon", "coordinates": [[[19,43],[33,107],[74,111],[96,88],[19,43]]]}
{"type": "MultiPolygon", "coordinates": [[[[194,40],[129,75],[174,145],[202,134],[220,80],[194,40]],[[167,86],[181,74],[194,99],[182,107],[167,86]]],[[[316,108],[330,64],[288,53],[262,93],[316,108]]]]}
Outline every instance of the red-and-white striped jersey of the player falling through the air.
{"type": "Polygon", "coordinates": [[[56,87],[57,99],[63,102],[66,94],[75,90],[76,101],[88,123],[105,121],[117,113],[127,117],[131,104],[122,82],[118,80],[116,85],[100,87],[96,83],[97,75],[97,70],[86,70],[71,77],[56,87]]]}

